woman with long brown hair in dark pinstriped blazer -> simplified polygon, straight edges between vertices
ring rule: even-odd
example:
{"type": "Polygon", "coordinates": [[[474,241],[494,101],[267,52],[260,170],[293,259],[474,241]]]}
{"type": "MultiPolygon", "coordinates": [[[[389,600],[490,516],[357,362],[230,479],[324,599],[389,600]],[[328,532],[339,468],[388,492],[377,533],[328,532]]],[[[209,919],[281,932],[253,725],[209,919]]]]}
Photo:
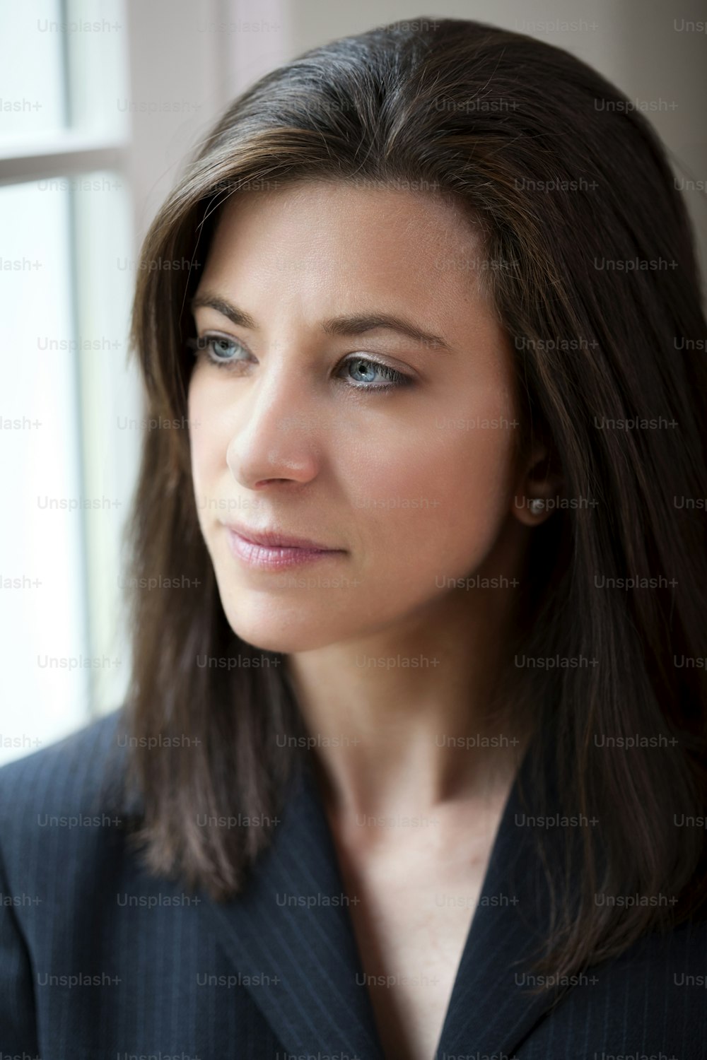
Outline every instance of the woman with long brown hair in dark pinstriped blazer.
{"type": "Polygon", "coordinates": [[[702,1055],[707,328],[624,101],[423,19],[190,162],[129,695],[2,771],[5,1053],[702,1055]]]}

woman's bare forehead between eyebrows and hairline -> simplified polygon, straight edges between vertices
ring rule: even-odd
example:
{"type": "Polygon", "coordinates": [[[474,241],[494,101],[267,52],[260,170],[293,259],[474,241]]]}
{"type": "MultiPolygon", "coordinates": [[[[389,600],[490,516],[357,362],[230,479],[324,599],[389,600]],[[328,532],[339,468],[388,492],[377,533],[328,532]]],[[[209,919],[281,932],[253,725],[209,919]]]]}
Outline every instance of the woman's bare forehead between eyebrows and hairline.
{"type": "Polygon", "coordinates": [[[306,180],[235,192],[220,208],[202,283],[249,278],[320,290],[382,285],[452,310],[476,301],[485,280],[480,228],[430,191],[371,182],[306,180]]]}

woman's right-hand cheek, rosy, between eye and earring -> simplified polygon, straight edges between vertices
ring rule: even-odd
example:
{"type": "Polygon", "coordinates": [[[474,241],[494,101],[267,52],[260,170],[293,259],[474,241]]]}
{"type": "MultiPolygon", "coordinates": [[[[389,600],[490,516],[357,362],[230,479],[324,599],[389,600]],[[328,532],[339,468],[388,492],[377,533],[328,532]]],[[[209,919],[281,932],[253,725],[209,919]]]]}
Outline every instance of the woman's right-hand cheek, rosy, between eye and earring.
{"type": "Polygon", "coordinates": [[[376,579],[392,584],[414,569],[434,584],[438,572],[464,573],[490,552],[514,485],[515,428],[510,396],[496,389],[487,398],[471,411],[447,404],[361,455],[351,508],[376,579]]]}

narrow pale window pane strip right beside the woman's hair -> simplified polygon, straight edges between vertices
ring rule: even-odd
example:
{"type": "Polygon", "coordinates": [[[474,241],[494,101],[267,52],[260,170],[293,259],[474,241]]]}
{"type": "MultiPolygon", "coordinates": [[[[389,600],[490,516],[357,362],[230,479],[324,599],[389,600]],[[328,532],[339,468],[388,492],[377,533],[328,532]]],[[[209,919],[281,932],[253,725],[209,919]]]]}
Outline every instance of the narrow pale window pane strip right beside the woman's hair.
{"type": "Polygon", "coordinates": [[[74,188],[77,332],[87,340],[78,351],[84,483],[86,493],[111,504],[88,510],[85,520],[91,654],[114,660],[91,674],[91,709],[103,713],[123,701],[129,672],[121,546],[144,434],[135,427],[142,396],[137,367],[126,364],[137,263],[124,178],[87,173],[74,188]]]}

